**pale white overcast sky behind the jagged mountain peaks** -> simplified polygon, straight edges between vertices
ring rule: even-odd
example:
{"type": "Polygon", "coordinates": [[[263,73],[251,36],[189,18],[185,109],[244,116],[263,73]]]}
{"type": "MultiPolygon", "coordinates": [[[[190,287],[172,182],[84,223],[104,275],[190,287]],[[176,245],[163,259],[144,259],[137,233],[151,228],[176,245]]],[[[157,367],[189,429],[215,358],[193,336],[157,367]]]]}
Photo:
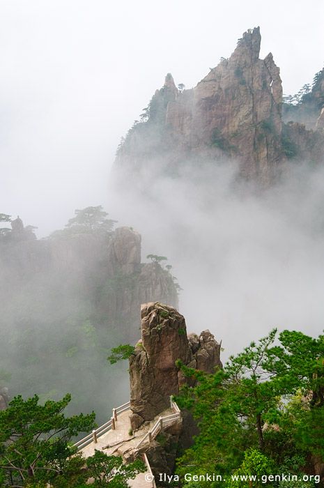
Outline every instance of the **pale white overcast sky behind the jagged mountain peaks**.
{"type": "Polygon", "coordinates": [[[0,213],[19,214],[39,227],[38,237],[63,227],[75,208],[105,206],[116,146],[168,72],[191,88],[254,26],[261,58],[271,51],[281,69],[284,93],[323,67],[321,0],[0,7],[0,213]]]}

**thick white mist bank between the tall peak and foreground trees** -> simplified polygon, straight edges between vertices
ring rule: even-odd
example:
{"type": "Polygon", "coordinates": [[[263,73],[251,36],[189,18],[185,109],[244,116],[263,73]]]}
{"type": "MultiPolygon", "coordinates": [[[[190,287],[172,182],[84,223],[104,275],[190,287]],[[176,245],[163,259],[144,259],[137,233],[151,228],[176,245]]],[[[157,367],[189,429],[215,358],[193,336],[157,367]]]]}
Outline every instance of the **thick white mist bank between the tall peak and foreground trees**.
{"type": "Polygon", "coordinates": [[[229,163],[204,162],[179,178],[149,167],[132,181],[115,169],[109,208],[141,232],[143,255],[168,257],[190,331],[209,328],[226,356],[275,327],[322,332],[322,167],[288,166],[262,191],[238,183],[229,163]]]}

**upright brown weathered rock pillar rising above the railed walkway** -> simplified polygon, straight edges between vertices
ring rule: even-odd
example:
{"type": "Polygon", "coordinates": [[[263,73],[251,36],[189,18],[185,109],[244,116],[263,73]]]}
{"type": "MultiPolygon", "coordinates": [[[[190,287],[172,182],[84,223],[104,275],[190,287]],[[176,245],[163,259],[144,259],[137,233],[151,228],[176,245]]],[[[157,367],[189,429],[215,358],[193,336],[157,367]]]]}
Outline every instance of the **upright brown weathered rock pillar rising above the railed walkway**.
{"type": "Polygon", "coordinates": [[[187,336],[183,315],[168,305],[146,303],[141,307],[141,340],[130,357],[130,409],[132,428],[152,420],[185,383],[176,366],[213,373],[220,362],[220,344],[209,330],[187,336]]]}

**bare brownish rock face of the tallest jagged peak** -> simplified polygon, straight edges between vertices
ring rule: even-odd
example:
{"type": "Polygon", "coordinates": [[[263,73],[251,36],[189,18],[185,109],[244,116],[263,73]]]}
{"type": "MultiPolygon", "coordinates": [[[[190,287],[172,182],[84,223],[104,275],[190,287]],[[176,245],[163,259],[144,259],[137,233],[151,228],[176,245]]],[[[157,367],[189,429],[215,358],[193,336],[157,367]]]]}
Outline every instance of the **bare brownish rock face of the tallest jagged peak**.
{"type": "Polygon", "coordinates": [[[190,97],[179,93],[169,103],[166,123],[182,144],[218,147],[240,160],[242,174],[268,183],[280,160],[282,88],[272,54],[259,59],[260,43],[259,28],[245,32],[190,97]]]}

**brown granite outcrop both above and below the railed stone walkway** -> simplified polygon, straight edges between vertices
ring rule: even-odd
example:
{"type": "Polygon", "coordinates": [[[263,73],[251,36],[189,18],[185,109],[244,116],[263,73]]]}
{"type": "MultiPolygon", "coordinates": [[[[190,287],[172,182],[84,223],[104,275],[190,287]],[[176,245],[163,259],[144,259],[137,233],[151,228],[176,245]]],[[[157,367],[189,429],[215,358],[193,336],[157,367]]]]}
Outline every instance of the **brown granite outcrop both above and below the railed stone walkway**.
{"type": "MultiPolygon", "coordinates": [[[[187,334],[185,318],[176,308],[162,303],[144,303],[141,306],[141,340],[130,356],[130,422],[132,431],[147,432],[153,427],[157,415],[169,415],[170,396],[181,386],[194,381],[187,379],[176,365],[180,359],[190,368],[212,374],[222,367],[221,345],[209,330],[199,336],[187,334]],[[150,422],[153,421],[154,422],[150,422]]],[[[156,479],[160,473],[172,475],[176,457],[189,448],[199,429],[192,413],[181,412],[180,422],[162,430],[139,450],[130,449],[128,457],[146,454],[156,479]]],[[[159,483],[159,486],[164,483],[159,483]]]]}

